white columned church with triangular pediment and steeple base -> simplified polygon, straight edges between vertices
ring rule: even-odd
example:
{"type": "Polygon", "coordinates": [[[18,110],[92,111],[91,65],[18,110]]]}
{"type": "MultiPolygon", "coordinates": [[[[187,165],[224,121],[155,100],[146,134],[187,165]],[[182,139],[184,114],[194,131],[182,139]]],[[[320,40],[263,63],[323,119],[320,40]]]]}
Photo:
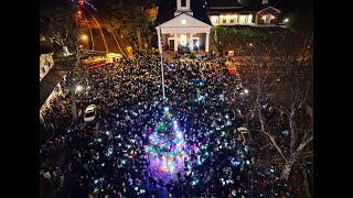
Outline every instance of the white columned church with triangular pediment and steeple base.
{"type": "Polygon", "coordinates": [[[199,1],[176,0],[176,9],[160,6],[157,16],[159,50],[178,52],[188,47],[190,52],[202,50],[208,52],[212,23],[199,1]],[[192,47],[193,46],[193,47],[192,47]]]}

